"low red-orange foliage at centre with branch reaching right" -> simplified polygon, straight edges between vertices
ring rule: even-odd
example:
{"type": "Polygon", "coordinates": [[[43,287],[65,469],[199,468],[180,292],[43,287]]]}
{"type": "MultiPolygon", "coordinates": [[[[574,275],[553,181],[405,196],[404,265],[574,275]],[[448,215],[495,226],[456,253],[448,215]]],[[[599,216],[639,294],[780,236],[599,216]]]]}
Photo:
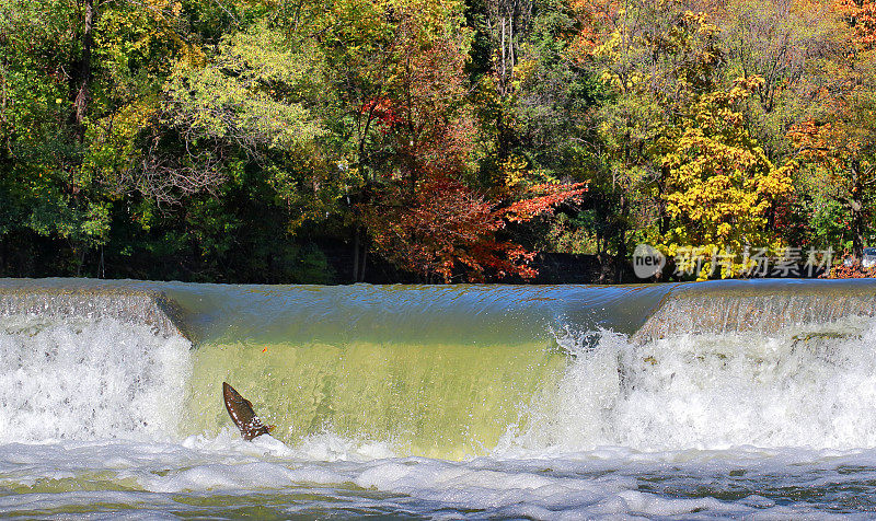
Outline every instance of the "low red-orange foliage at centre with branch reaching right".
{"type": "Polygon", "coordinates": [[[508,207],[496,205],[462,183],[430,176],[412,192],[403,184],[381,193],[381,199],[361,208],[374,246],[390,262],[430,280],[454,277],[483,281],[486,275],[532,278],[534,257],[522,246],[502,241],[496,232],[506,222],[521,222],[551,213],[556,205],[575,200],[587,188],[543,185],[539,195],[508,207]]]}

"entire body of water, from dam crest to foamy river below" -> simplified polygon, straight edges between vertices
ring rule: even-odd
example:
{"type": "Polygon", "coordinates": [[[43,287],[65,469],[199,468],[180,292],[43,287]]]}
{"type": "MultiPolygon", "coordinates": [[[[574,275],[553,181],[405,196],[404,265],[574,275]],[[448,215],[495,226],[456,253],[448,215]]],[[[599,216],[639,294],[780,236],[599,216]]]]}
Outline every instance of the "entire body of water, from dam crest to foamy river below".
{"type": "Polygon", "coordinates": [[[875,294],[0,280],[0,516],[871,518],[875,294]]]}

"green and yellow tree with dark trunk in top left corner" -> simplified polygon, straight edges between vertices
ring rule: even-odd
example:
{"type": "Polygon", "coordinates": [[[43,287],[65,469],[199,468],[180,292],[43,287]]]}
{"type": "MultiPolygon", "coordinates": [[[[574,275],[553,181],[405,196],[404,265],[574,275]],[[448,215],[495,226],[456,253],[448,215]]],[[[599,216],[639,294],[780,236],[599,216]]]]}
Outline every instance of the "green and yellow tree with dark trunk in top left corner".
{"type": "Polygon", "coordinates": [[[162,58],[180,49],[180,27],[168,23],[178,9],[168,1],[147,10],[91,0],[0,2],[0,141],[12,185],[3,190],[12,217],[0,229],[10,236],[62,245],[76,273],[106,243],[116,194],[95,163],[113,162],[110,155],[132,144],[102,141],[102,128],[115,120],[116,129],[130,124],[128,135],[138,132],[139,121],[115,115],[136,107],[130,119],[160,92],[162,58]]]}

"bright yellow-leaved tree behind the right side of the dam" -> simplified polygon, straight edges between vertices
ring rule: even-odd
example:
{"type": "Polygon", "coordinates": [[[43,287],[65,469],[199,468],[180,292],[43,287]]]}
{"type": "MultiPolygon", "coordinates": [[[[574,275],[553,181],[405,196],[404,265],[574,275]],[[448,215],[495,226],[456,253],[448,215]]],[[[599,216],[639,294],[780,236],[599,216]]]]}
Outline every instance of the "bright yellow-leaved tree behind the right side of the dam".
{"type": "Polygon", "coordinates": [[[763,82],[740,78],[728,91],[702,94],[681,124],[660,138],[668,141],[660,161],[671,218],[665,245],[670,255],[680,246],[710,252],[695,274],[700,278],[718,268],[714,254],[723,256],[719,275],[725,278],[749,268],[747,252],[780,246],[766,229],[766,216],[791,190],[793,163],[775,166],[766,158],[739,108],[763,82]]]}

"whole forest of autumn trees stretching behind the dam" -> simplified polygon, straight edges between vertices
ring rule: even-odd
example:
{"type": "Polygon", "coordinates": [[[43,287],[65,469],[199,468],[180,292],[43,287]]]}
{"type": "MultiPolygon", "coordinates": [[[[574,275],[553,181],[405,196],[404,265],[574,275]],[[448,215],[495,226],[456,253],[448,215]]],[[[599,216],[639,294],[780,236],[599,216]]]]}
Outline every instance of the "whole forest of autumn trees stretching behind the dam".
{"type": "Polygon", "coordinates": [[[0,277],[860,257],[875,53],[876,0],[0,0],[0,277]]]}

